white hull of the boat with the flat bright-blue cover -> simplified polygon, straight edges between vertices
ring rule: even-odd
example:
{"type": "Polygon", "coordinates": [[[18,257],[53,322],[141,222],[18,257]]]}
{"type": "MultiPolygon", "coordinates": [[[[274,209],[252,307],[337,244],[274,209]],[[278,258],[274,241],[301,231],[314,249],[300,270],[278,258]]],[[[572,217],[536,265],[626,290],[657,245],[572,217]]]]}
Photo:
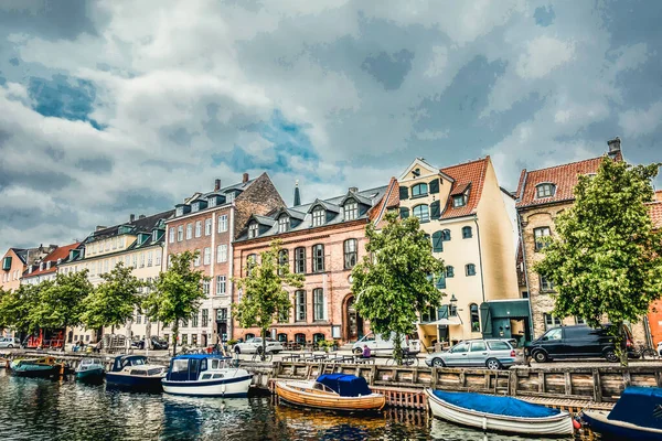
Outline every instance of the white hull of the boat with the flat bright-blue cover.
{"type": "Polygon", "coordinates": [[[456,424],[482,431],[528,435],[563,435],[574,432],[573,419],[567,412],[545,418],[505,417],[460,408],[439,399],[430,389],[425,391],[433,416],[456,424]]]}

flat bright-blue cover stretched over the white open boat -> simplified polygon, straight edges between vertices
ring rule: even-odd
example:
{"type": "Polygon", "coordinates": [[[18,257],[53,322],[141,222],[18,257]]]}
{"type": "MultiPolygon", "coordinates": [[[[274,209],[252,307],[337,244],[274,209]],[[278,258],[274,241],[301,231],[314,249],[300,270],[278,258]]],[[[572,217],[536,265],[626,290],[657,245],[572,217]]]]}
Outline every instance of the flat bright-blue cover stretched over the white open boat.
{"type": "Polygon", "coordinates": [[[545,418],[560,413],[560,410],[533,405],[513,397],[442,390],[435,390],[433,394],[442,401],[477,412],[520,418],[545,418]]]}

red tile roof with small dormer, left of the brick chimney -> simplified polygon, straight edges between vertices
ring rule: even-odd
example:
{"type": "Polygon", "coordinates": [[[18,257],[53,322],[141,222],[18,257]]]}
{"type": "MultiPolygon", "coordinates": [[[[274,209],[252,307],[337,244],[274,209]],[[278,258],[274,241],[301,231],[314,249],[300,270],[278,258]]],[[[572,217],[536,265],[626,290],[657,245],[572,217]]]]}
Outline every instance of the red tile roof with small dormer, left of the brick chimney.
{"type": "Polygon", "coordinates": [[[579,175],[597,173],[602,158],[605,157],[556,165],[548,169],[532,171],[523,170],[517,185],[517,208],[555,202],[574,201],[575,194],[573,192],[579,182],[579,175]],[[556,193],[554,196],[536,198],[536,185],[543,183],[556,185],[556,193]]]}

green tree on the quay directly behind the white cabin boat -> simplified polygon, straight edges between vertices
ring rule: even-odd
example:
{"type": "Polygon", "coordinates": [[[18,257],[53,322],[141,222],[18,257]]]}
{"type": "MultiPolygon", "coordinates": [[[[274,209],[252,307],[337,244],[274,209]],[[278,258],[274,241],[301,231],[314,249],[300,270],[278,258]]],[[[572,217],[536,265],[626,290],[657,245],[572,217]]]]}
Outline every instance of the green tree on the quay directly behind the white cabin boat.
{"type": "Polygon", "coordinates": [[[172,323],[172,355],[177,354],[179,323],[190,318],[200,308],[205,298],[203,281],[209,281],[203,271],[191,269],[200,251],[184,251],[171,255],[170,267],[153,282],[154,290],[145,299],[142,305],[151,320],[172,323]]]}

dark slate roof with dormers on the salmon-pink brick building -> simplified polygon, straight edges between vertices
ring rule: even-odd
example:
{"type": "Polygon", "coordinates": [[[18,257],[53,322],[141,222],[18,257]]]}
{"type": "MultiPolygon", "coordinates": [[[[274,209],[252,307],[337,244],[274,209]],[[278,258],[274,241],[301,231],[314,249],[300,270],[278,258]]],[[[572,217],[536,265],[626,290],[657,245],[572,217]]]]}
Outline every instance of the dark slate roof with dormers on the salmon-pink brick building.
{"type": "MultiPolygon", "coordinates": [[[[370,190],[364,190],[364,191],[360,191],[355,193],[355,198],[357,200],[357,202],[360,204],[364,204],[369,207],[369,209],[361,216],[359,216],[356,218],[356,220],[360,219],[364,219],[365,222],[370,220],[370,215],[371,215],[371,211],[376,207],[380,206],[382,198],[384,197],[384,195],[386,194],[386,191],[388,190],[388,185],[384,185],[384,186],[380,186],[376,189],[370,189],[370,190]]],[[[342,215],[342,209],[340,207],[340,204],[346,200],[346,194],[340,195],[340,196],[335,196],[335,197],[330,197],[328,200],[314,200],[314,202],[310,203],[310,204],[303,204],[303,205],[297,205],[297,206],[292,206],[292,207],[288,207],[285,209],[277,209],[274,211],[269,216],[258,216],[258,215],[253,215],[250,217],[250,219],[255,219],[257,220],[259,224],[261,225],[267,225],[269,226],[269,229],[261,233],[258,238],[260,237],[267,237],[267,236],[275,236],[278,234],[278,223],[276,222],[276,218],[278,216],[280,216],[280,214],[284,211],[287,211],[288,213],[292,213],[296,212],[296,217],[298,219],[302,219],[301,223],[297,226],[291,226],[290,224],[290,229],[288,230],[288,233],[292,233],[292,232],[303,232],[303,230],[308,230],[311,228],[323,228],[325,226],[329,225],[338,225],[338,224],[342,224],[344,222],[343,219],[343,215],[342,215]],[[314,206],[314,205],[322,205],[324,206],[327,209],[329,209],[332,214],[334,214],[333,218],[330,219],[329,222],[327,222],[324,225],[319,226],[319,227],[312,227],[312,214],[310,213],[310,209],[314,206]],[[270,220],[270,223],[267,222],[270,220]]],[[[250,222],[249,219],[249,222],[250,222]]],[[[247,225],[245,225],[246,227],[247,225]]],[[[247,228],[244,228],[244,230],[242,232],[242,234],[239,235],[237,241],[243,241],[243,240],[247,240],[248,239],[248,234],[247,234],[247,228]]]]}

